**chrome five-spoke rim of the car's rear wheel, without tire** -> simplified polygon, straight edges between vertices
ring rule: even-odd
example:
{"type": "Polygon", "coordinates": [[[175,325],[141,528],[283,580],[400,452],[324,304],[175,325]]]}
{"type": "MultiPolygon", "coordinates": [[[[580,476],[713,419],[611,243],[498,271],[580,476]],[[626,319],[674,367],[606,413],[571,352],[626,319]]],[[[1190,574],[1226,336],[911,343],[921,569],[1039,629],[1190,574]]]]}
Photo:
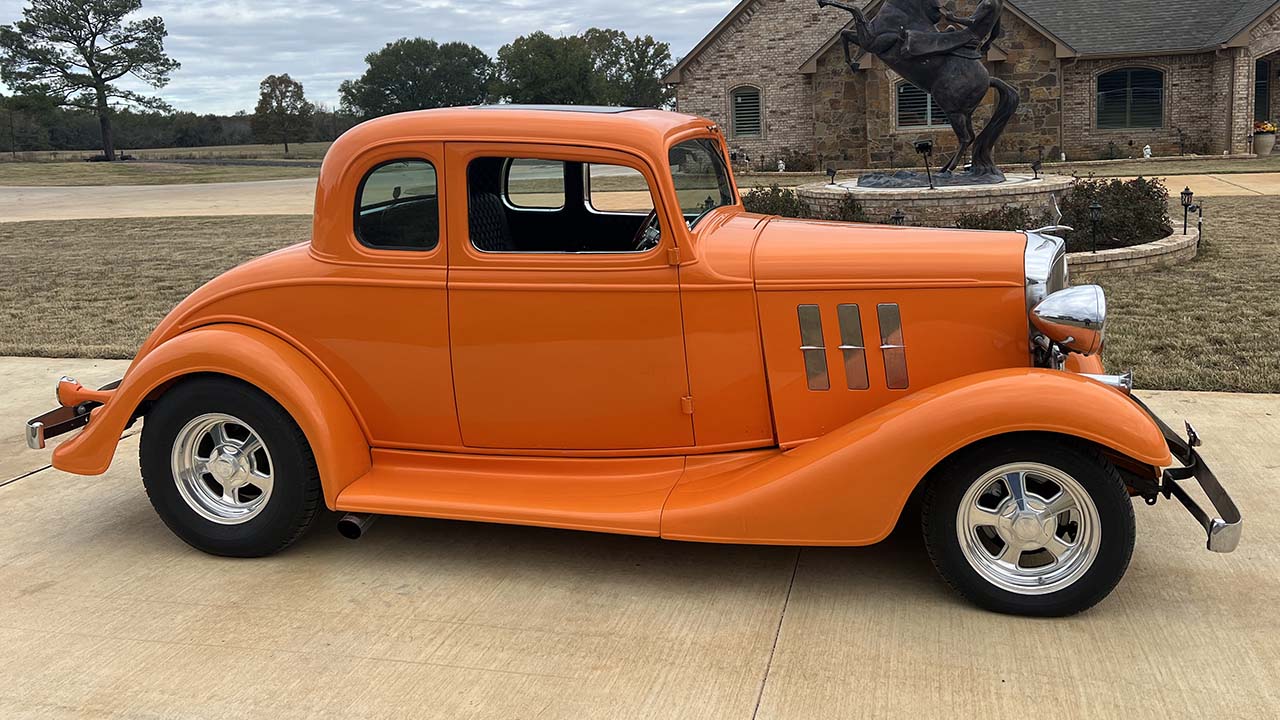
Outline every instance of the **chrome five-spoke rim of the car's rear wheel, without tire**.
{"type": "Polygon", "coordinates": [[[253,428],[232,415],[193,418],[178,430],[170,460],[179,495],[206,520],[247,523],[271,498],[271,454],[253,428]]]}

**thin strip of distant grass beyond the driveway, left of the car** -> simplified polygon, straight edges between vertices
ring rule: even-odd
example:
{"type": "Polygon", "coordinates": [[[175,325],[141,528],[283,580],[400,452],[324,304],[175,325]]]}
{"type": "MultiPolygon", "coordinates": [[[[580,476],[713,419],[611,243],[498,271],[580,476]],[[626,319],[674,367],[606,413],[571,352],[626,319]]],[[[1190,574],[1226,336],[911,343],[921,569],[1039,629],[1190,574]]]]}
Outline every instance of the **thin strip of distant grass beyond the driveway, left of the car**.
{"type": "Polygon", "coordinates": [[[315,168],[289,167],[0,161],[0,186],[28,187],[192,184],[314,178],[319,174],[320,170],[315,168]]]}

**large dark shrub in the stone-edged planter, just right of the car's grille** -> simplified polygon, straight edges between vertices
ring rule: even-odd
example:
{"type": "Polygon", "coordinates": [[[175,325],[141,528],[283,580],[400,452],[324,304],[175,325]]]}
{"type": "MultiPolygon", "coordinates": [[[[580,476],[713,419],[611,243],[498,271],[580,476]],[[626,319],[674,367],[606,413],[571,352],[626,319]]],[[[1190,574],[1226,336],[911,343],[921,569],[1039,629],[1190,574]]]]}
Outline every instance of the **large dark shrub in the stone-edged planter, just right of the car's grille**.
{"type": "Polygon", "coordinates": [[[1158,179],[1078,179],[1061,204],[1064,225],[1075,228],[1066,234],[1071,252],[1093,250],[1093,218],[1089,205],[1102,205],[1098,222],[1098,250],[1128,247],[1166,237],[1172,232],[1169,222],[1169,190],[1158,179]]]}

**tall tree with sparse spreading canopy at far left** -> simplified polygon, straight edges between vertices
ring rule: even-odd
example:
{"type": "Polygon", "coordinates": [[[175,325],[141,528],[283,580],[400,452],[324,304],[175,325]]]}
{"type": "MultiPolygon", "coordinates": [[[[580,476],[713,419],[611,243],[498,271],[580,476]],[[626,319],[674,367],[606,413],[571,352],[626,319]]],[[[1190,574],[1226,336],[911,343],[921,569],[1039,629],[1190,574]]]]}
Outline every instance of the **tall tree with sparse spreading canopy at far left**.
{"type": "Polygon", "coordinates": [[[31,0],[20,20],[0,27],[0,79],[17,92],[95,113],[102,155],[115,160],[113,104],[169,109],[115,82],[128,76],[159,88],[180,67],[165,55],[164,19],[125,22],[141,9],[142,0],[31,0]]]}

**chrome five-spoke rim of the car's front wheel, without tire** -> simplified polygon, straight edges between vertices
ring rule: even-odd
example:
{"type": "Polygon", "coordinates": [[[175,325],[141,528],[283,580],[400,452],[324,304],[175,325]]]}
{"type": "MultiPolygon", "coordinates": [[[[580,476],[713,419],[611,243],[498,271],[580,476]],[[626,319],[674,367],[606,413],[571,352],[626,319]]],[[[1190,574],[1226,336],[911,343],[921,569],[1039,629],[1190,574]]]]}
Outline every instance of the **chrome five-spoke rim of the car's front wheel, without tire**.
{"type": "Polygon", "coordinates": [[[956,512],[965,560],[993,585],[1046,594],[1089,570],[1102,544],[1098,510],[1066,473],[1036,462],[978,478],[956,512]]]}

